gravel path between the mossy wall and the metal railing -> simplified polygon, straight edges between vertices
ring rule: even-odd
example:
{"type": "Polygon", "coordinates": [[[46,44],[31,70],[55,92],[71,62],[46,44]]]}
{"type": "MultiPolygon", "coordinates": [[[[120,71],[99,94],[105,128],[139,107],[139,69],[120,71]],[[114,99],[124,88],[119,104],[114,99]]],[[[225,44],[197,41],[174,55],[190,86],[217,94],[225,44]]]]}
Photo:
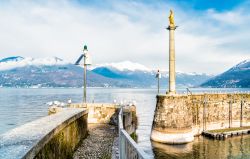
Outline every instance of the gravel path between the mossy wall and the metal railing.
{"type": "Polygon", "coordinates": [[[115,126],[88,124],[89,135],[74,153],[74,159],[111,159],[114,139],[118,136],[115,126]]]}

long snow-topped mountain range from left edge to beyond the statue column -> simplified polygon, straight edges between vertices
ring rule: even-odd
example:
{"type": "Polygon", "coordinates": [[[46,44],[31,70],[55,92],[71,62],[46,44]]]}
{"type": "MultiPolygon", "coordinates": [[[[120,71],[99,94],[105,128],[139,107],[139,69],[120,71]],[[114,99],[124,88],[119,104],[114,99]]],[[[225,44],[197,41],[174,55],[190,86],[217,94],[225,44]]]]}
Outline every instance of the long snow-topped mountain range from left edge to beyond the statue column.
{"type": "MultiPolygon", "coordinates": [[[[87,70],[89,87],[156,87],[155,70],[124,61],[91,66],[87,70]]],[[[177,87],[194,87],[211,75],[177,72],[177,87]]],[[[161,86],[168,83],[168,72],[162,72],[161,86]]],[[[83,68],[60,58],[8,57],[0,60],[0,87],[82,87],[83,68]]]]}

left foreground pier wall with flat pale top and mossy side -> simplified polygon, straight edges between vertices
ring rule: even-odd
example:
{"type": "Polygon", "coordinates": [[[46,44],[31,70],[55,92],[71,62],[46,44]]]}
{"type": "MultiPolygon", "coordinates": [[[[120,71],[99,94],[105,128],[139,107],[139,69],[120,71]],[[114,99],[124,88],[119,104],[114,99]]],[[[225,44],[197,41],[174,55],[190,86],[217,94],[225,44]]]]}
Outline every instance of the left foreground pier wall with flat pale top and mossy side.
{"type": "Polygon", "coordinates": [[[0,135],[0,158],[72,158],[87,136],[87,116],[86,109],[66,108],[12,129],[0,135]]]}

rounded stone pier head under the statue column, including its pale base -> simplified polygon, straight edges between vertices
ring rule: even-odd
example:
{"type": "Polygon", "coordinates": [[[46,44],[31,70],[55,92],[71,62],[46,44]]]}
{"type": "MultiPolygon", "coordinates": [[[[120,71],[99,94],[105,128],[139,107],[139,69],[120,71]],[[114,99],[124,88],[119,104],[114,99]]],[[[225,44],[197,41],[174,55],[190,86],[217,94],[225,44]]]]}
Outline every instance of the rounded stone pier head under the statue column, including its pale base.
{"type": "Polygon", "coordinates": [[[151,132],[153,141],[182,144],[192,142],[192,109],[187,107],[187,96],[157,96],[151,132]]]}

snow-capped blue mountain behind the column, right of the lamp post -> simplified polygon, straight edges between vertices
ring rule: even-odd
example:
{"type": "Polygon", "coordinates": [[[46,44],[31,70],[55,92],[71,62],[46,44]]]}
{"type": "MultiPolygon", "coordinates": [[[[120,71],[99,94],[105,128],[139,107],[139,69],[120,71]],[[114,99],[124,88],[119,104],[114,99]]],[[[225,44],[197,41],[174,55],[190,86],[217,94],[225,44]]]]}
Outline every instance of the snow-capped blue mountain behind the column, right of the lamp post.
{"type": "MultiPolygon", "coordinates": [[[[121,63],[97,65],[92,69],[92,72],[137,87],[156,86],[155,75],[157,70],[149,69],[138,63],[125,61],[121,63]]],[[[166,87],[168,84],[168,71],[161,71],[161,73],[161,85],[166,87]]],[[[212,75],[177,72],[176,77],[178,87],[193,87],[208,80],[212,75]]]]}

